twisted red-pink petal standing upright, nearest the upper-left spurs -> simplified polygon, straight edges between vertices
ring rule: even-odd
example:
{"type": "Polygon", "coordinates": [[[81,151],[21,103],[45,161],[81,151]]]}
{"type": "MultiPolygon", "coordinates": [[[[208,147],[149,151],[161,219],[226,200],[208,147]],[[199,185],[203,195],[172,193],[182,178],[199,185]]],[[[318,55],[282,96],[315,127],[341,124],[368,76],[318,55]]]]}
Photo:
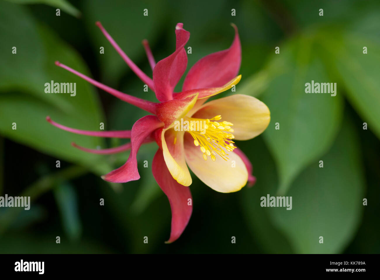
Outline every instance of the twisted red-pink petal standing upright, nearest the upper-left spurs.
{"type": "Polygon", "coordinates": [[[176,26],[175,52],[158,61],[153,69],[154,91],[161,102],[173,99],[174,87],[186,70],[187,54],[184,46],[190,38],[190,32],[182,27],[181,23],[176,26]]]}

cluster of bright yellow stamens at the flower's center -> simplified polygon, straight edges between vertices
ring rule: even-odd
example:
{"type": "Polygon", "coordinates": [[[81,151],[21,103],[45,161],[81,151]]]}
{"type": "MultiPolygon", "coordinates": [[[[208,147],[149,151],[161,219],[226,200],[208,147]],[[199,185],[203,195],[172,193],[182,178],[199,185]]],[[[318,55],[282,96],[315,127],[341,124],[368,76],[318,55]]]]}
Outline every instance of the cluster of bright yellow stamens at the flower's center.
{"type": "Polygon", "coordinates": [[[228,121],[218,122],[222,119],[221,115],[214,116],[211,119],[198,119],[198,118],[187,118],[190,121],[189,133],[194,138],[194,145],[199,146],[201,152],[203,153],[203,159],[207,160],[207,156],[211,157],[212,161],[215,161],[215,156],[218,154],[224,160],[228,160],[227,152],[233,151],[234,146],[231,139],[235,138],[231,132],[234,130],[231,128],[233,125],[228,121]],[[199,121],[199,123],[204,123],[203,131],[196,131],[193,124],[199,121]],[[204,121],[204,122],[203,122],[204,121]],[[223,149],[224,148],[224,149],[223,149]]]}

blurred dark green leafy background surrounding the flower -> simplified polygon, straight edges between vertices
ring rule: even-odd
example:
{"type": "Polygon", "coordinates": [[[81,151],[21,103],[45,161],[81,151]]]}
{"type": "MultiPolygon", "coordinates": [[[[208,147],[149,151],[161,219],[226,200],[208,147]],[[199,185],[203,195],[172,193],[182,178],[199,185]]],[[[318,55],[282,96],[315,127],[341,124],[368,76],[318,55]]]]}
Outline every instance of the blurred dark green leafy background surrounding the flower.
{"type": "Polygon", "coordinates": [[[0,208],[0,253],[380,253],[379,18],[377,0],[0,0],[0,196],[33,200],[29,211],[0,208]],[[262,135],[237,143],[252,160],[256,185],[224,194],[193,176],[193,215],[170,245],[164,244],[169,203],[150,168],[156,144],[139,151],[139,181],[109,184],[100,175],[123,164],[129,152],[98,156],[70,143],[107,148],[122,140],[71,134],[45,121],[50,115],[78,129],[97,130],[103,122],[106,130],[121,130],[146,114],[55,60],[155,101],[97,20],[149,76],[142,39],[161,60],[173,52],[174,27],[183,22],[191,33],[188,70],[228,48],[235,23],[242,43],[236,93],[255,96],[271,110],[262,135]],[[76,82],[76,97],[44,93],[51,80],[76,82]],[[337,95],[306,94],[311,80],[336,82],[337,95]],[[293,209],[261,208],[267,193],[292,196],[293,209]]]}

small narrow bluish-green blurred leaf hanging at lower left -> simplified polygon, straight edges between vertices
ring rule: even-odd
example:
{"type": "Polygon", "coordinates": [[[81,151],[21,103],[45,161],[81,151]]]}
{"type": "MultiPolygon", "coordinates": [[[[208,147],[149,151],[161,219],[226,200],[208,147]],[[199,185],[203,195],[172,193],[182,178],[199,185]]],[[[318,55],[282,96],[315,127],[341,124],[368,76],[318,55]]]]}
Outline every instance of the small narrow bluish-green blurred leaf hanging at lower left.
{"type": "Polygon", "coordinates": [[[62,227],[72,241],[81,237],[82,223],[79,219],[78,197],[71,184],[65,182],[54,188],[54,197],[57,201],[62,218],[62,227]]]}

